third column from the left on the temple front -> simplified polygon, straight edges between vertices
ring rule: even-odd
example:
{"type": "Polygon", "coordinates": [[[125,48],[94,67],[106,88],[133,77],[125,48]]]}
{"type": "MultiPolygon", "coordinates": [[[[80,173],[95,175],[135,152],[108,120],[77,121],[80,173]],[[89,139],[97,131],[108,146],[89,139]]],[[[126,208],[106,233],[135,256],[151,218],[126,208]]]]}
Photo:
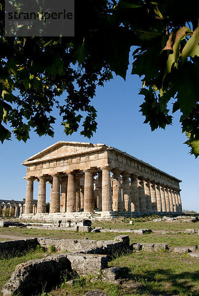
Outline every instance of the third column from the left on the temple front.
{"type": "Polygon", "coordinates": [[[60,212],[60,174],[54,174],[50,201],[50,213],[60,212]]]}

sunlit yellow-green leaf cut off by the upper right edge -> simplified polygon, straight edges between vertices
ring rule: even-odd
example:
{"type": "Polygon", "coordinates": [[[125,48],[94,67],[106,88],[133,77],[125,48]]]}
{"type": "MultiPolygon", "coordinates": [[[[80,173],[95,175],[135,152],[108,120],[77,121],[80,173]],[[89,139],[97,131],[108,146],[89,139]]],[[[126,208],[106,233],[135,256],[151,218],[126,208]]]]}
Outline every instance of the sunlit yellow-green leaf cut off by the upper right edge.
{"type": "Polygon", "coordinates": [[[188,56],[192,58],[199,57],[199,27],[196,28],[182,50],[182,64],[184,64],[188,56]]]}

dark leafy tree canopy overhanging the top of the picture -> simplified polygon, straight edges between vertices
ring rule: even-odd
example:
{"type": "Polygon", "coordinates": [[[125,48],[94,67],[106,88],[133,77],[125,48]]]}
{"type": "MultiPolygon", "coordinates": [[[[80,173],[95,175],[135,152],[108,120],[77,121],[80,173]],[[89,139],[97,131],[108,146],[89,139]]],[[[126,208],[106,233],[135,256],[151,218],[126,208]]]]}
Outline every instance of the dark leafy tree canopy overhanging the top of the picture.
{"type": "Polygon", "coordinates": [[[25,142],[31,129],[53,136],[54,106],[66,135],[82,125],[90,138],[97,129],[96,87],[113,72],[125,79],[136,46],[132,74],[143,82],[144,123],[152,130],[172,124],[173,98],[186,143],[199,155],[198,0],[75,0],[75,37],[52,38],[4,37],[4,1],[0,8],[1,142],[11,131],[25,142]]]}

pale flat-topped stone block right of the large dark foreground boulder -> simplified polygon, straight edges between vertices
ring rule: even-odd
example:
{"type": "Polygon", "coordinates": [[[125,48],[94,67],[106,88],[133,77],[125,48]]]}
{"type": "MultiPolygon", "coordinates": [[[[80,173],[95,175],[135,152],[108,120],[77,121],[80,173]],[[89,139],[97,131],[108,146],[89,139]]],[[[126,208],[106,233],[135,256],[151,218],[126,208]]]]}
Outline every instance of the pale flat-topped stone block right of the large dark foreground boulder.
{"type": "Polygon", "coordinates": [[[108,267],[108,257],[97,254],[67,254],[72,270],[79,275],[98,274],[100,269],[108,267]]]}

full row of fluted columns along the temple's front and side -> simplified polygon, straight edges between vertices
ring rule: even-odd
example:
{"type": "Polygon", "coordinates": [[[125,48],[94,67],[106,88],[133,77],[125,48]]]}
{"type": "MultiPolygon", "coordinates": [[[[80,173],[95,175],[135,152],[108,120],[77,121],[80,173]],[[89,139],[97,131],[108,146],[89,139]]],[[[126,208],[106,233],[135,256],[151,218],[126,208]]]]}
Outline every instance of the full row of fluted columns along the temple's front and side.
{"type": "MultiPolygon", "coordinates": [[[[94,176],[93,169],[83,170],[84,212],[94,212],[94,176]]],[[[46,182],[48,176],[38,177],[37,213],[46,212],[46,182]]],[[[77,172],[52,175],[50,213],[78,212],[82,205],[80,178],[77,172]],[[60,180],[61,179],[61,180],[60,180]],[[60,188],[61,186],[61,188],[60,188]]],[[[27,179],[25,213],[33,213],[33,181],[27,179]]],[[[49,182],[49,181],[48,181],[49,182]]],[[[98,207],[103,212],[131,211],[131,212],[182,212],[180,189],[144,180],[142,177],[130,175],[128,172],[113,170],[109,166],[100,168],[98,172],[98,207]],[[112,187],[111,174],[113,173],[112,187]],[[121,184],[122,174],[122,184],[121,184]],[[131,182],[130,182],[130,179],[131,182]]]]}

